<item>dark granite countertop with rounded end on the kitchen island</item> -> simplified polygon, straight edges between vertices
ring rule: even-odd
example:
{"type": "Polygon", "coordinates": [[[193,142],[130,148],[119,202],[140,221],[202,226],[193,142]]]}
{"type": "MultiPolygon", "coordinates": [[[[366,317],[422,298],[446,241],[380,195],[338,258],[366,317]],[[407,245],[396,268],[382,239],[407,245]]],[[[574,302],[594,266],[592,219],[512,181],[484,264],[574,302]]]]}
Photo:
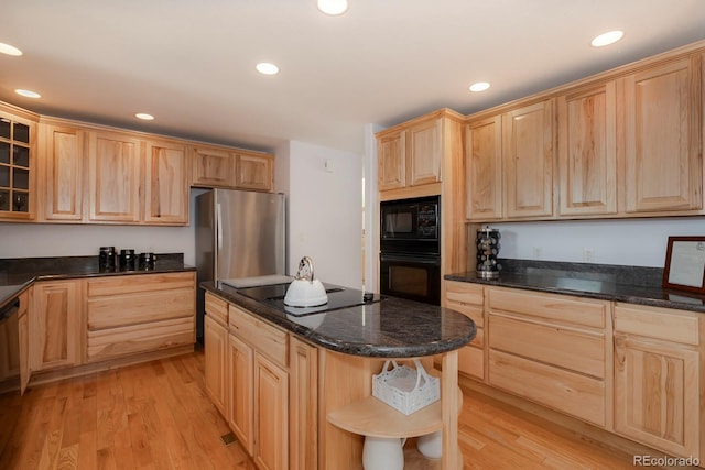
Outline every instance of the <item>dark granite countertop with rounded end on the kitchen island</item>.
{"type": "Polygon", "coordinates": [[[220,282],[200,287],[306,340],[336,352],[414,358],[458,349],[475,338],[475,323],[434,305],[387,297],[381,302],[304,317],[286,315],[220,282]]]}

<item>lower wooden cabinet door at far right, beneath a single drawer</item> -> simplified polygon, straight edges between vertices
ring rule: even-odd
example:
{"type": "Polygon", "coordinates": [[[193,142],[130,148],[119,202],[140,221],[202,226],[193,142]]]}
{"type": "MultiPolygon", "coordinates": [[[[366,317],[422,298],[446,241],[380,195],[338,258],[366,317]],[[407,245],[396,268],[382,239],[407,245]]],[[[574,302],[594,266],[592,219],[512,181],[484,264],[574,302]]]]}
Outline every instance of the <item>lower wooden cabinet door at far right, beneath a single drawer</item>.
{"type": "Polygon", "coordinates": [[[695,350],[615,335],[615,430],[674,456],[698,456],[695,350]]]}

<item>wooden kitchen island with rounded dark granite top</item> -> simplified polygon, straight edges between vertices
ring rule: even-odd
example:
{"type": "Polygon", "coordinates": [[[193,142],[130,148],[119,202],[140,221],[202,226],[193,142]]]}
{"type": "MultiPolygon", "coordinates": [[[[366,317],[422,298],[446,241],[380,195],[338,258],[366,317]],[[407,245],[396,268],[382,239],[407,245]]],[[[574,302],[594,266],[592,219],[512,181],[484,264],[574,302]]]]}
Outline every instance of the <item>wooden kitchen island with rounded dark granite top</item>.
{"type": "Polygon", "coordinates": [[[405,420],[404,437],[442,430],[441,468],[462,467],[456,351],[475,337],[468,317],[394,297],[296,316],[221,282],[200,287],[207,293],[206,386],[260,467],[362,468],[364,435],[389,429],[389,437],[398,437],[390,417],[405,420]],[[434,357],[442,365],[440,403],[408,417],[387,405],[379,414],[371,383],[384,360],[423,358],[432,371],[434,357]],[[253,378],[252,386],[239,389],[248,378],[253,378]],[[259,406],[264,400],[278,401],[281,413],[268,417],[259,406]],[[347,412],[359,415],[364,409],[377,414],[367,430],[341,422],[347,412]],[[436,416],[420,423],[424,413],[436,416]],[[286,431],[273,438],[282,427],[286,431]]]}

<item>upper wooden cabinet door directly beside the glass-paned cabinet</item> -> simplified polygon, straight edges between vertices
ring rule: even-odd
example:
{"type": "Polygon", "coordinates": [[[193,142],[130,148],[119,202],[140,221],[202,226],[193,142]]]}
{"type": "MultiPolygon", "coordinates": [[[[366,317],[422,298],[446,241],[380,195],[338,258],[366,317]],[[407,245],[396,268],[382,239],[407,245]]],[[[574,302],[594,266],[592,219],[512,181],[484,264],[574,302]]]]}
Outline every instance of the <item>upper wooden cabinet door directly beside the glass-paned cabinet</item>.
{"type": "Polygon", "coordinates": [[[45,159],[44,217],[82,220],[84,217],[84,132],[42,124],[45,159]]]}

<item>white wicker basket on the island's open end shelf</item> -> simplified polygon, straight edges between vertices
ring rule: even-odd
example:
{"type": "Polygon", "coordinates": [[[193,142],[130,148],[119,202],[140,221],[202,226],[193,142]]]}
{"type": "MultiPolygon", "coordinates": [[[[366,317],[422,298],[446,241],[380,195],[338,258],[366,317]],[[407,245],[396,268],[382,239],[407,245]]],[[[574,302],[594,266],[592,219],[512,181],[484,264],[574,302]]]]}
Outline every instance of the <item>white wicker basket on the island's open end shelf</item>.
{"type": "Polygon", "coordinates": [[[414,364],[416,369],[399,365],[397,361],[384,362],[382,371],[372,375],[372,396],[406,416],[438,401],[438,379],[429,375],[417,359],[414,364]]]}

